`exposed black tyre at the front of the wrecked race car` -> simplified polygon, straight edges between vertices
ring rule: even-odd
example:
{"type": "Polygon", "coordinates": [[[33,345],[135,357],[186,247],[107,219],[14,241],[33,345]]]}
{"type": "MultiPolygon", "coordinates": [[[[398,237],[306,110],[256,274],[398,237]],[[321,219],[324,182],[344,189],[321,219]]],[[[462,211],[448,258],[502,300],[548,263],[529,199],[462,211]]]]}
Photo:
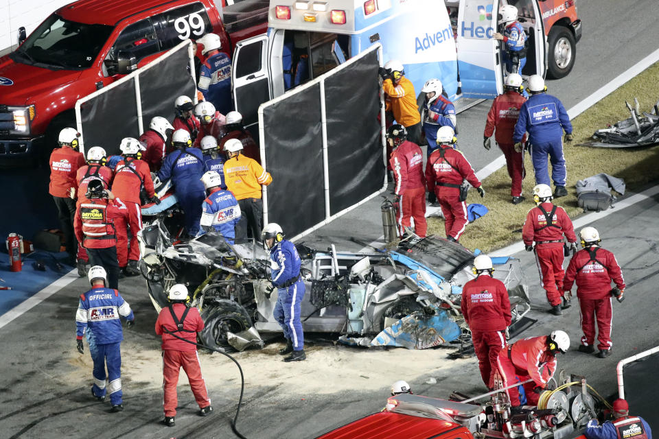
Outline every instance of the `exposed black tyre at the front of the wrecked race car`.
{"type": "Polygon", "coordinates": [[[217,300],[201,313],[204,329],[199,338],[209,348],[231,348],[227,332],[239,333],[252,326],[252,320],[243,307],[232,300],[217,300]]]}

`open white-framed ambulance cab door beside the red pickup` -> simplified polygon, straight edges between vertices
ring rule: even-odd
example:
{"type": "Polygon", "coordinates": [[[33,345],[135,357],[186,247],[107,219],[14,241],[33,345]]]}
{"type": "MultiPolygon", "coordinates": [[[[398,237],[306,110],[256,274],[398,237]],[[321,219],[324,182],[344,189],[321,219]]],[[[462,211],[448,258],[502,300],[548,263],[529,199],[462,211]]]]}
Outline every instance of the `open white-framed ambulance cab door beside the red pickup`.
{"type": "Polygon", "coordinates": [[[233,51],[233,102],[246,127],[258,122],[259,105],[272,97],[268,43],[267,35],[259,35],[236,43],[233,51]]]}

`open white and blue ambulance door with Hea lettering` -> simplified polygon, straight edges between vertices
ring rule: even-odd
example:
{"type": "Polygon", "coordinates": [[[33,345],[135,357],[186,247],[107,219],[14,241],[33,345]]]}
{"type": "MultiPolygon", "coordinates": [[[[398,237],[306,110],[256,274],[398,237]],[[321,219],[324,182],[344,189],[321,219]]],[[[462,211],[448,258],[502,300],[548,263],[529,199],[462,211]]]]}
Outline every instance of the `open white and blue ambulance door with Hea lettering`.
{"type": "Polygon", "coordinates": [[[498,0],[461,0],[458,12],[458,72],[463,97],[494,99],[503,92],[496,32],[498,0]]]}

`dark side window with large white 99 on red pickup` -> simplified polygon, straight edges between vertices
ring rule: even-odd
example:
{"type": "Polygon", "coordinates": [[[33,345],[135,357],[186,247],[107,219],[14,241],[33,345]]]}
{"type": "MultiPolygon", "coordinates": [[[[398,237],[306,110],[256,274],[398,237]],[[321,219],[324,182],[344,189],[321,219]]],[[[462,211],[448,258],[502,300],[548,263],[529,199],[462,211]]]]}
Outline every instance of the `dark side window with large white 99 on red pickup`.
{"type": "Polygon", "coordinates": [[[213,25],[202,3],[163,12],[152,19],[163,49],[171,49],[187,38],[196,40],[213,32],[213,25]]]}

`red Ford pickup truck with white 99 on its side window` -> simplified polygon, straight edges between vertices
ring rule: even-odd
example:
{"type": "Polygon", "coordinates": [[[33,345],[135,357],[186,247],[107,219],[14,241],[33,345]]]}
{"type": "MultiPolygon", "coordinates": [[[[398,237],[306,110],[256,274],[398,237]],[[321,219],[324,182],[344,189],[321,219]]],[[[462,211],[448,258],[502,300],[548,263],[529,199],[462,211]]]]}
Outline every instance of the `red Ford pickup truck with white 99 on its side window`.
{"type": "Polygon", "coordinates": [[[267,5],[229,3],[79,0],[56,10],[0,58],[0,165],[47,156],[59,131],[74,126],[76,101],[129,73],[133,57],[139,67],[209,32],[222,38],[222,50],[231,55],[232,43],[266,31],[267,21],[254,17],[255,8],[267,14],[267,5]]]}

